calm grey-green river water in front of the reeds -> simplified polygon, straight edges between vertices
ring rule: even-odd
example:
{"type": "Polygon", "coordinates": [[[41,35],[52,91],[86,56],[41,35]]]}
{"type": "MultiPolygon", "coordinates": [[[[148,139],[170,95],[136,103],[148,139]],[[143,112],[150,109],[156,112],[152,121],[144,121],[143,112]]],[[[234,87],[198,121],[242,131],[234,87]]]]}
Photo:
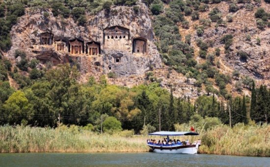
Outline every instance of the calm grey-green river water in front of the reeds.
{"type": "Polygon", "coordinates": [[[270,167],[269,157],[159,153],[2,153],[0,167],[270,167]]]}

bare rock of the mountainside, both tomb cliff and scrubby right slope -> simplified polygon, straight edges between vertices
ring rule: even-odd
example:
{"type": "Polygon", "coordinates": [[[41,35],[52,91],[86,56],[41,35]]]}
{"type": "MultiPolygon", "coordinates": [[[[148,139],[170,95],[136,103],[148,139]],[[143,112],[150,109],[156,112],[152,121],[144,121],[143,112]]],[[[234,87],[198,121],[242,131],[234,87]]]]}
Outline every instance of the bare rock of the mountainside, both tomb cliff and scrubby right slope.
{"type": "MultiPolygon", "coordinates": [[[[194,48],[195,60],[202,64],[206,60],[199,56],[199,47],[197,40],[201,39],[210,45],[208,53],[215,52],[215,48],[221,50],[220,56],[216,56],[215,62],[219,62],[220,73],[232,75],[233,71],[239,70],[240,77],[234,78],[226,88],[233,95],[242,93],[249,94],[248,89],[244,88],[243,92],[236,92],[234,85],[240,80],[249,76],[257,81],[257,84],[264,83],[270,86],[270,28],[259,29],[256,26],[254,14],[258,7],[263,7],[266,12],[270,13],[270,4],[264,0],[256,1],[239,1],[236,3],[238,10],[229,12],[229,6],[233,1],[222,1],[220,3],[209,3],[206,11],[199,11],[200,20],[209,19],[209,12],[218,8],[221,12],[221,18],[226,21],[230,17],[232,22],[226,22],[216,26],[212,23],[204,29],[203,35],[198,35],[196,29],[203,25],[200,20],[192,20],[191,16],[184,16],[189,21],[189,28],[183,28],[179,23],[179,32],[182,41],[185,36],[191,35],[190,46],[194,48]],[[247,9],[251,4],[252,9],[247,9]],[[224,43],[220,39],[226,35],[233,35],[232,45],[229,52],[225,52],[224,43]],[[258,39],[260,42],[258,43],[258,39]],[[245,58],[241,57],[241,53],[245,58]]],[[[187,76],[174,71],[162,63],[162,56],[159,54],[156,43],[158,39],[153,30],[155,16],[151,14],[150,9],[140,0],[137,2],[139,10],[135,11],[133,7],[113,6],[110,12],[102,10],[96,15],[86,14],[85,26],[78,24],[71,18],[54,17],[50,9],[44,11],[40,9],[26,9],[26,14],[22,16],[17,24],[13,26],[10,34],[12,47],[4,53],[15,63],[14,53],[16,50],[22,50],[27,53],[27,58],[37,58],[46,62],[51,61],[54,65],[58,63],[69,62],[70,59],[80,64],[81,82],[86,82],[89,76],[99,78],[102,74],[115,73],[117,77],[111,77],[110,83],[133,86],[145,82],[158,81],[163,87],[174,88],[176,96],[189,96],[196,98],[201,93],[206,93],[205,86],[198,88],[194,85],[196,79],[187,79],[187,76]],[[45,14],[46,13],[46,14],[45,14]],[[47,15],[47,13],[49,15],[47,15]],[[120,26],[128,28],[130,40],[127,49],[106,49],[104,43],[104,29],[120,26]],[[72,56],[68,52],[56,52],[54,45],[40,45],[40,34],[51,32],[54,34],[54,40],[68,41],[74,38],[80,38],[84,43],[96,41],[100,43],[102,54],[100,56],[72,56]],[[143,38],[147,41],[147,53],[133,53],[133,41],[136,38],[143,38]],[[120,64],[115,65],[112,55],[123,55],[120,64]],[[99,70],[97,63],[99,62],[99,70]],[[112,69],[111,69],[112,68],[112,69]],[[151,76],[147,74],[151,72],[151,76]],[[152,77],[152,78],[151,78],[152,77]]],[[[167,5],[164,4],[164,8],[167,5]]],[[[40,65],[42,66],[42,64],[40,65]]],[[[211,81],[211,79],[210,79],[211,81]]],[[[214,81],[213,81],[214,83],[214,81]]],[[[216,85],[214,88],[218,89],[216,85]]]]}

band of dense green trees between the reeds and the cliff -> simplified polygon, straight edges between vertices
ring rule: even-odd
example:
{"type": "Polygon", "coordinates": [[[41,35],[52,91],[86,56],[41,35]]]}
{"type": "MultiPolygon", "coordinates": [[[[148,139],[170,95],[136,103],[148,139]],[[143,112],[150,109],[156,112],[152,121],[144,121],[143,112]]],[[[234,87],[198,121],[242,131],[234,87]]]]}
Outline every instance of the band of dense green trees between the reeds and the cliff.
{"type": "MultiPolygon", "coordinates": [[[[18,55],[24,54],[16,52],[15,56],[18,55]]],[[[246,117],[250,116],[256,122],[263,122],[265,114],[270,115],[270,90],[263,85],[256,89],[254,83],[251,99],[243,96],[218,102],[213,94],[202,95],[191,103],[186,96],[175,98],[173,89],[168,92],[160,83],[127,88],[109,85],[105,76],[98,82],[90,77],[87,83],[79,83],[76,65],[64,64],[53,69],[48,65],[37,70],[36,63],[36,60],[29,63],[26,70],[30,75],[25,76],[23,71],[12,67],[9,60],[0,59],[0,124],[55,127],[60,114],[60,122],[65,125],[88,126],[93,131],[100,131],[103,119],[104,131],[134,129],[139,133],[144,123],[147,129],[158,129],[159,112],[162,130],[174,130],[175,123],[187,123],[195,113],[204,118],[218,117],[228,124],[228,106],[232,125],[247,124],[249,118],[246,117]],[[19,90],[10,86],[8,75],[19,90]]]]}

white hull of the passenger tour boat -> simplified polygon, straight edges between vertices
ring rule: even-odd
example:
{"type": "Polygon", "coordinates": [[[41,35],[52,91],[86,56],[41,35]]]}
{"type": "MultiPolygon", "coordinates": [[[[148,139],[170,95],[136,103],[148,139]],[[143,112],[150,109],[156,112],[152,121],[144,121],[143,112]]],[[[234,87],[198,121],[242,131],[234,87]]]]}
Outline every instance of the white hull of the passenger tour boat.
{"type": "Polygon", "coordinates": [[[147,144],[153,152],[157,153],[184,153],[184,154],[197,154],[199,144],[183,145],[183,146],[162,146],[147,144]]]}

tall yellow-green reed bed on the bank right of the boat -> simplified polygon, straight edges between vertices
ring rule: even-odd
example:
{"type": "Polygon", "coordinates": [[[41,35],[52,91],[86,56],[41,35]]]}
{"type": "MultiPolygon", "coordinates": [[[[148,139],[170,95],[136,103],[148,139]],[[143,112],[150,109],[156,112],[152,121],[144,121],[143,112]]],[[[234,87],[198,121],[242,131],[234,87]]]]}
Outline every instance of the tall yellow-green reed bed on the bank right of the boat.
{"type": "MultiPolygon", "coordinates": [[[[176,125],[179,131],[189,128],[189,124],[176,125]]],[[[195,138],[202,140],[199,153],[270,157],[270,125],[239,123],[233,128],[221,124],[196,129],[200,135],[195,138]]]]}

